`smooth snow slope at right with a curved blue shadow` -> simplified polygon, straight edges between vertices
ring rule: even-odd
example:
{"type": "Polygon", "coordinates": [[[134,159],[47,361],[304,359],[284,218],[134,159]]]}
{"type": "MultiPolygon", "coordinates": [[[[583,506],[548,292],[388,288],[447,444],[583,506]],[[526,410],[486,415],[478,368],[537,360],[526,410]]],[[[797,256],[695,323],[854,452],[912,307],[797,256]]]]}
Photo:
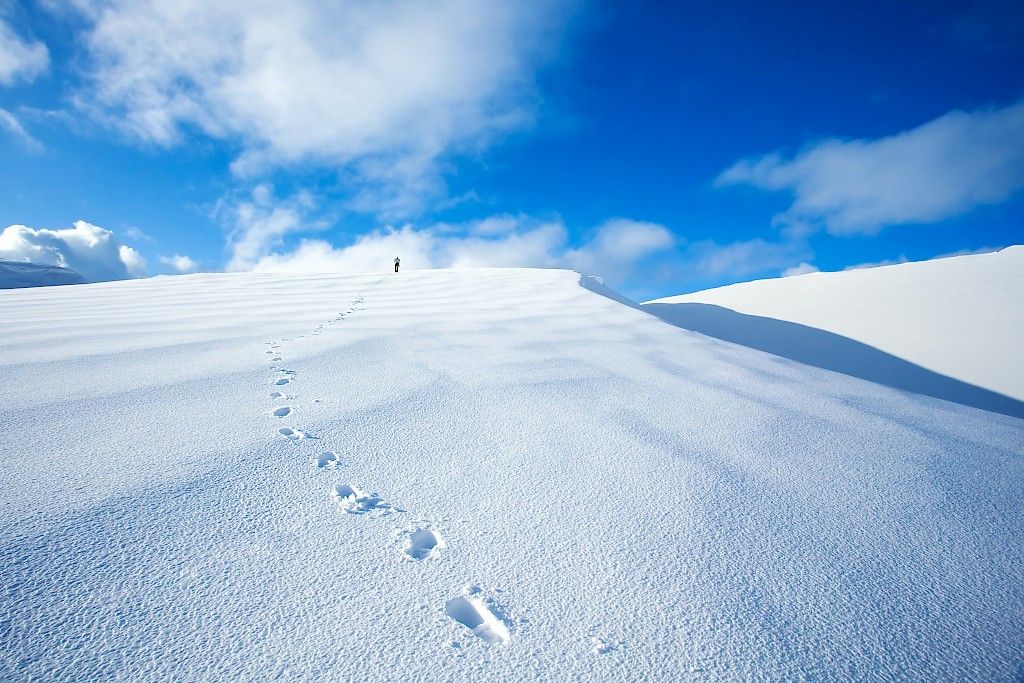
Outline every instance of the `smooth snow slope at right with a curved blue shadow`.
{"type": "Polygon", "coordinates": [[[1022,246],[741,283],[644,306],[721,339],[1024,417],[1022,246]]]}

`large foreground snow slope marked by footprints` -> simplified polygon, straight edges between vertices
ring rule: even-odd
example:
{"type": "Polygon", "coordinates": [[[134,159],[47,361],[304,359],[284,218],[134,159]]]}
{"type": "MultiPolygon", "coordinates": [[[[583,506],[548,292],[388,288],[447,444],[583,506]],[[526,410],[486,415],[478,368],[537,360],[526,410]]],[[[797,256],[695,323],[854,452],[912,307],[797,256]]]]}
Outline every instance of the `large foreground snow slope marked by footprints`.
{"type": "Polygon", "coordinates": [[[562,270],[156,278],[0,319],[0,679],[1024,671],[1024,421],[562,270]]]}

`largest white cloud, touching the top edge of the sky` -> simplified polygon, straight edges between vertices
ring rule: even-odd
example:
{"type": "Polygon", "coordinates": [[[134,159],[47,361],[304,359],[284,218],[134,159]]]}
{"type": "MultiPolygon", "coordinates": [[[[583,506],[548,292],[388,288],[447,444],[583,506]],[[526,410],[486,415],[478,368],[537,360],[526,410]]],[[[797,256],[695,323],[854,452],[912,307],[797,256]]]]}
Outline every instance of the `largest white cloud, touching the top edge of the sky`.
{"type": "Polygon", "coordinates": [[[440,163],[536,116],[561,1],[78,0],[89,88],[79,104],[160,144],[185,129],[241,143],[244,177],[343,170],[352,206],[415,213],[440,163]]]}

